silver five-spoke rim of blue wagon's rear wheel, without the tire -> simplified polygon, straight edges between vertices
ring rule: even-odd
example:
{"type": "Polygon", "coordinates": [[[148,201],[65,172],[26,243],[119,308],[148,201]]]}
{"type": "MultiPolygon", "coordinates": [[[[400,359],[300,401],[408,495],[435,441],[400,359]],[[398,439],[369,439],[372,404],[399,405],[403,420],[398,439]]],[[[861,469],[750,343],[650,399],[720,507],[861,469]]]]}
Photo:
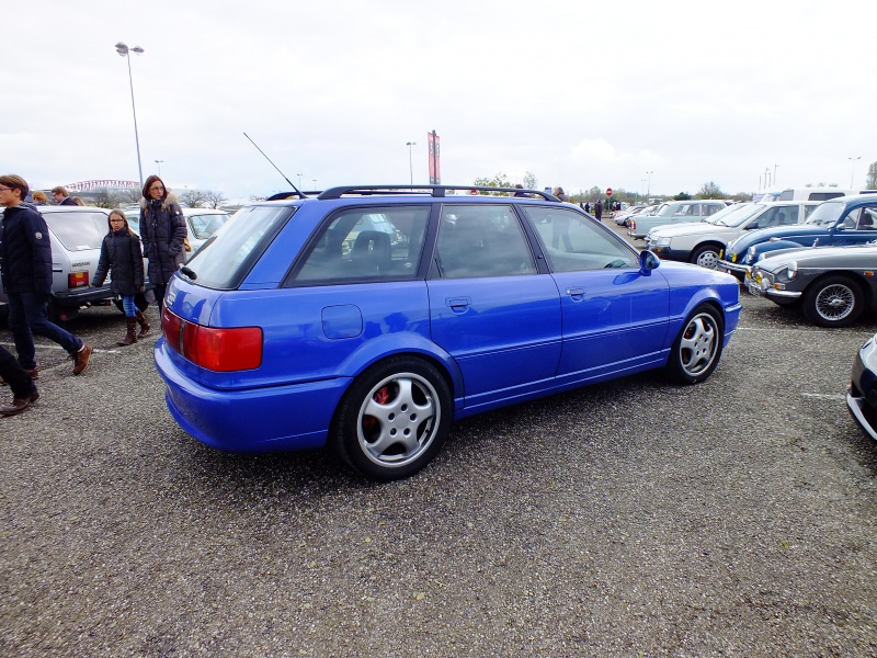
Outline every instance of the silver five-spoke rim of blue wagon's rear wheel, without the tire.
{"type": "Polygon", "coordinates": [[[363,454],[381,467],[410,464],[437,435],[442,405],[432,384],[414,373],[376,384],[360,407],[356,434],[363,454]]]}

